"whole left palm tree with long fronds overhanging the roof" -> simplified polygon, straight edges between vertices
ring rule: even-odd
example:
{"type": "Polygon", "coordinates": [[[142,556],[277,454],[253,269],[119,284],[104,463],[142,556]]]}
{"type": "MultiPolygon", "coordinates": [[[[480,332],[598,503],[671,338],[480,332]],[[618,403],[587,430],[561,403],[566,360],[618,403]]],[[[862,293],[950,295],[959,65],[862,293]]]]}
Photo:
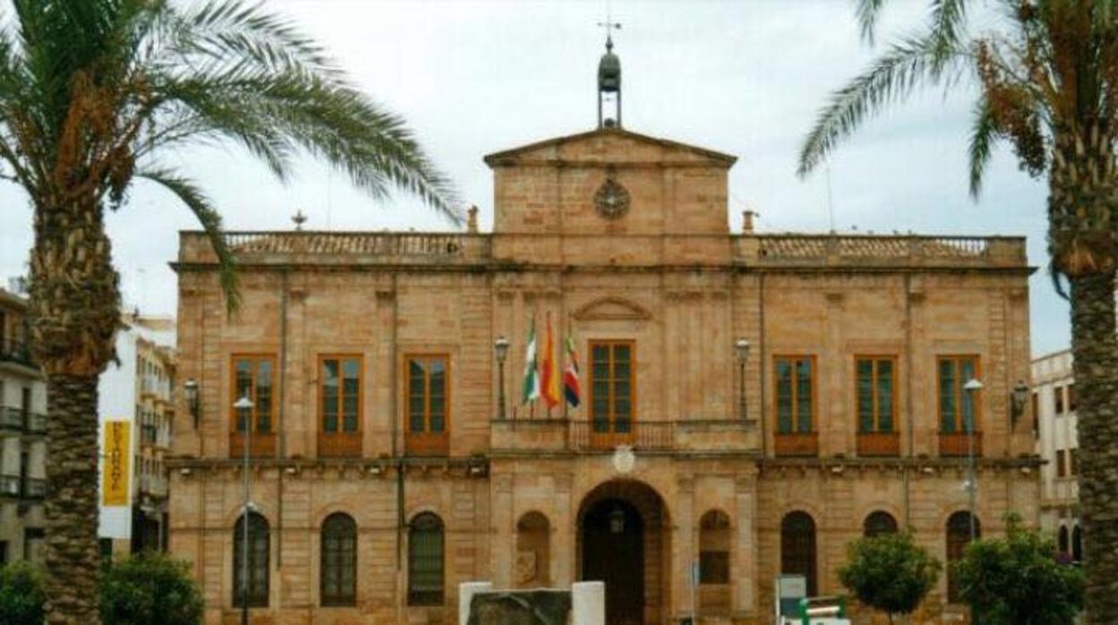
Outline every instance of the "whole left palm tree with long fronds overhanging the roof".
{"type": "Polygon", "coordinates": [[[97,377],[120,318],[104,212],[138,179],[190,209],[236,303],[221,219],[160,161],[231,141],[284,179],[310,153],[375,197],[400,188],[457,220],[404,121],[351,86],[290,20],[244,0],[12,0],[0,29],[0,177],[34,211],[30,316],[48,392],[48,622],[97,622],[97,377]]]}

